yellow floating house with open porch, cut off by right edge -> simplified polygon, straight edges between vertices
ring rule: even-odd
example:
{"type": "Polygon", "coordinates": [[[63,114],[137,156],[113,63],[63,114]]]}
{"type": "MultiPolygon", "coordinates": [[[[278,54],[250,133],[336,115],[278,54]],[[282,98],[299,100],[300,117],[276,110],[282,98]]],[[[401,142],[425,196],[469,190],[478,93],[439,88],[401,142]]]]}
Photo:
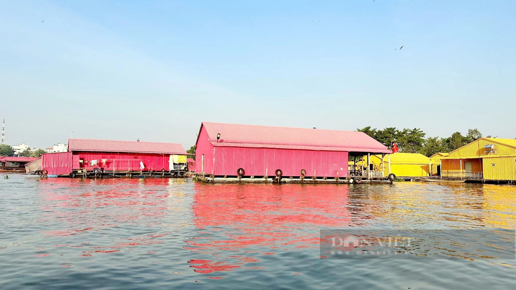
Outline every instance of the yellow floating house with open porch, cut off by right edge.
{"type": "Polygon", "coordinates": [[[516,139],[480,138],[441,157],[441,176],[492,182],[516,181],[516,139]]]}

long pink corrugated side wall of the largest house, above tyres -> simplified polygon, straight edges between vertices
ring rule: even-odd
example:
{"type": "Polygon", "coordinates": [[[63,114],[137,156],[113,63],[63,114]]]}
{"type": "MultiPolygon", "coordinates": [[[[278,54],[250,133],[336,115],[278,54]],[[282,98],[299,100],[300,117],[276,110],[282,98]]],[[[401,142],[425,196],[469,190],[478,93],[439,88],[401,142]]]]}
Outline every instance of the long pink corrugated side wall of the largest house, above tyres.
{"type": "MultiPolygon", "coordinates": [[[[293,149],[215,147],[215,175],[237,175],[243,168],[245,175],[274,176],[276,169],[283,176],[299,176],[301,169],[306,176],[346,177],[348,152],[309,151],[293,149]]],[[[210,172],[211,173],[211,172],[210,172]]]]}

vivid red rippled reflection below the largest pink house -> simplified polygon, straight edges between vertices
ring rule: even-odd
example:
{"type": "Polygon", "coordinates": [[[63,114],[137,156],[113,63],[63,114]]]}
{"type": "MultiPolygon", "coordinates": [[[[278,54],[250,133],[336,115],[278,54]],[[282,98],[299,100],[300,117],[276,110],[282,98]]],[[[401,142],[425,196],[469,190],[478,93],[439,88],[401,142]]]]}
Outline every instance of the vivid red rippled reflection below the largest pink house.
{"type": "MultiPolygon", "coordinates": [[[[280,246],[283,251],[318,248],[320,228],[362,223],[348,211],[348,186],[196,183],[194,188],[193,221],[197,228],[210,230],[199,234],[223,231],[227,238],[192,237],[185,240],[188,246],[183,248],[207,254],[222,251],[223,260],[226,260],[224,253],[229,254],[227,251],[274,255],[277,252],[270,252],[270,249],[280,249],[280,246]],[[198,241],[199,238],[203,240],[198,241]],[[260,250],[261,247],[267,247],[267,250],[260,250]]],[[[233,260],[241,256],[226,257],[233,260]]],[[[232,264],[213,260],[190,260],[188,263],[198,261],[200,266],[190,267],[196,268],[196,272],[208,273],[233,270],[241,267],[239,265],[260,261],[254,257],[239,260],[232,264]]],[[[262,267],[249,267],[256,268],[262,267]]]]}

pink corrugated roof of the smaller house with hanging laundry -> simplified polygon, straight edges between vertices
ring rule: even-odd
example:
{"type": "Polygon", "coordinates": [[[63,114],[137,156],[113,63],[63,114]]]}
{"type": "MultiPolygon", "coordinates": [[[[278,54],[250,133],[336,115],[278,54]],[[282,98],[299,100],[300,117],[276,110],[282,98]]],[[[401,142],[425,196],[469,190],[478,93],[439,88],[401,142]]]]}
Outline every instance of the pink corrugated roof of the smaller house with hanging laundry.
{"type": "Polygon", "coordinates": [[[68,150],[151,154],[186,154],[185,149],[179,143],[115,141],[95,139],[68,139],[68,150]]]}

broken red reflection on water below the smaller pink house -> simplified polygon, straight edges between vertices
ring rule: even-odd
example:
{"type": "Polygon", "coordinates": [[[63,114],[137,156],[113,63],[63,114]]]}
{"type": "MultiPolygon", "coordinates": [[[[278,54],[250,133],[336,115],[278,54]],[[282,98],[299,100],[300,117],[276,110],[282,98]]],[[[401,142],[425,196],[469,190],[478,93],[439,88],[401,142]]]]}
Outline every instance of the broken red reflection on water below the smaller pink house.
{"type": "MultiPolygon", "coordinates": [[[[44,213],[41,221],[65,221],[66,224],[70,224],[70,227],[41,233],[45,234],[44,237],[84,235],[89,232],[118,227],[120,223],[152,223],[153,219],[158,220],[171,213],[170,208],[167,207],[169,185],[169,179],[42,179],[39,194],[44,213]]],[[[170,232],[153,232],[146,236],[124,238],[114,245],[90,248],[117,249],[159,244],[164,241],[157,239],[168,234],[170,232]]],[[[89,242],[81,244],[89,244],[89,242]]],[[[56,247],[58,246],[69,245],[56,245],[56,247]]],[[[120,250],[84,252],[112,253],[118,251],[120,250]]]]}

